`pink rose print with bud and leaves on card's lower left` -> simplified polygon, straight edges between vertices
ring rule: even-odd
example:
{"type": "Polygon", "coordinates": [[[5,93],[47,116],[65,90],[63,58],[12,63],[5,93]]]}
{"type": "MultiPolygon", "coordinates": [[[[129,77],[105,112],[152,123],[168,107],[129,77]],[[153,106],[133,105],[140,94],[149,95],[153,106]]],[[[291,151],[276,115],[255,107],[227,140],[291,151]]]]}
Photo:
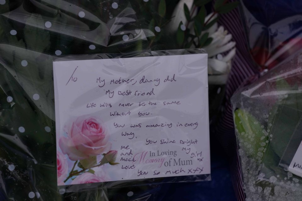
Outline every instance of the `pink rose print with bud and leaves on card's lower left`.
{"type": "Polygon", "coordinates": [[[96,172],[104,164],[119,164],[115,162],[117,151],[110,150],[109,138],[108,128],[98,117],[85,115],[67,122],[59,139],[58,186],[108,181],[96,172]],[[97,161],[100,155],[103,157],[97,161]]]}

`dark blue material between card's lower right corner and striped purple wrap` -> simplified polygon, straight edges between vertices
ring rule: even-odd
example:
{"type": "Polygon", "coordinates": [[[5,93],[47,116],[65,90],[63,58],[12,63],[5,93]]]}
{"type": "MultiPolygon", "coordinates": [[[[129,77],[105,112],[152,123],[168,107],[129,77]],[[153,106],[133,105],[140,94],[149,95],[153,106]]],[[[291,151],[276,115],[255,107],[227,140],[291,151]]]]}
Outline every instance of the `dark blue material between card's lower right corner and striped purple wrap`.
{"type": "Polygon", "coordinates": [[[210,182],[182,182],[162,184],[159,197],[162,201],[236,201],[227,157],[215,139],[211,139],[210,182]]]}

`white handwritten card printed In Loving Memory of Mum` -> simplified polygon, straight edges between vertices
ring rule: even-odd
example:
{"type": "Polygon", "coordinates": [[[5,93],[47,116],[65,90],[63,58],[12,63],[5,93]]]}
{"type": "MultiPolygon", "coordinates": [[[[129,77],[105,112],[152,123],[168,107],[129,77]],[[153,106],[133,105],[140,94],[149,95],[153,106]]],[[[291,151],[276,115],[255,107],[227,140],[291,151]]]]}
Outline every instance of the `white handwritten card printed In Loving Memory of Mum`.
{"type": "Polygon", "coordinates": [[[207,54],[53,62],[58,186],[210,174],[207,54]]]}

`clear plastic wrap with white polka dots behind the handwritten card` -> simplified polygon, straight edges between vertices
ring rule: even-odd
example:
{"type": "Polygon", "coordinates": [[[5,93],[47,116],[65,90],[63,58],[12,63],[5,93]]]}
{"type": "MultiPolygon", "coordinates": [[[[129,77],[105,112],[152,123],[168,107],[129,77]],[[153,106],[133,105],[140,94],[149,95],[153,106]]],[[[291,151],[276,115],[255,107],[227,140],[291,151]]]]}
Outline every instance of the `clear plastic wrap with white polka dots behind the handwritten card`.
{"type": "Polygon", "coordinates": [[[0,24],[0,200],[161,200],[158,181],[64,193],[55,177],[53,58],[152,54],[131,2],[2,0],[0,24]]]}

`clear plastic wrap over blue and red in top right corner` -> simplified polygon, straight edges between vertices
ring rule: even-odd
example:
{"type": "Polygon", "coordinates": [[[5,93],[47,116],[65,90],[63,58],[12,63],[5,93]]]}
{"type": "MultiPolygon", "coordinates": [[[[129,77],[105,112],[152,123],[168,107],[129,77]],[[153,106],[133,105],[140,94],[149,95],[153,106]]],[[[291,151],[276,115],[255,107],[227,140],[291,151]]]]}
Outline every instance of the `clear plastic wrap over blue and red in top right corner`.
{"type": "Polygon", "coordinates": [[[250,52],[262,69],[273,68],[302,45],[299,0],[241,0],[250,52]]]}

